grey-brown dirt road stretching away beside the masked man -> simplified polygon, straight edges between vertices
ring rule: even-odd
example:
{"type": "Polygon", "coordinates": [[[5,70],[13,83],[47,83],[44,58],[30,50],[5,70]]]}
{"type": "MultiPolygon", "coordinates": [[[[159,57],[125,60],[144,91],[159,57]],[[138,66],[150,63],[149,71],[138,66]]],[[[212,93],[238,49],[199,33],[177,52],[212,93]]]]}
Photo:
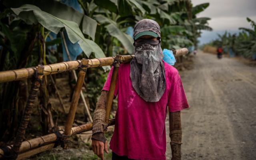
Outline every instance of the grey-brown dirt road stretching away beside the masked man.
{"type": "Polygon", "coordinates": [[[182,158],[256,160],[256,68],[202,52],[194,63],[181,73],[191,107],[182,111],[182,158]]]}

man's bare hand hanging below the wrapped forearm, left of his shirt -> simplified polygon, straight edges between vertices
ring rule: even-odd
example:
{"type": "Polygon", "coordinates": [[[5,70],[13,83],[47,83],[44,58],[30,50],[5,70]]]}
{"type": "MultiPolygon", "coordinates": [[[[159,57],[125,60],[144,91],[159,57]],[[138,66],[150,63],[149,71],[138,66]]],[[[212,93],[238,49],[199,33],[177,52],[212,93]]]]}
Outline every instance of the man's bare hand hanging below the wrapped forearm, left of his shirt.
{"type": "Polygon", "coordinates": [[[104,150],[106,153],[108,153],[108,142],[106,141],[105,144],[99,140],[92,139],[92,151],[94,154],[96,154],[98,157],[101,158],[101,160],[104,160],[104,150]]]}

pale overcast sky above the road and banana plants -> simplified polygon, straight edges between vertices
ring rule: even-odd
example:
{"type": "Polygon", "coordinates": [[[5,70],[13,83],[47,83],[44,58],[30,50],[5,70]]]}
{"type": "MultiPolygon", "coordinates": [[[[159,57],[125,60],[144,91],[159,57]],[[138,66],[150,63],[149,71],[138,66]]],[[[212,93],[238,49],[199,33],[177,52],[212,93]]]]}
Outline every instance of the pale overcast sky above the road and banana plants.
{"type": "Polygon", "coordinates": [[[209,26],[213,31],[203,31],[200,44],[217,38],[217,33],[225,30],[236,33],[239,27],[250,28],[246,17],[256,22],[256,0],[192,0],[193,6],[209,2],[210,6],[198,17],[209,17],[209,26]]]}

